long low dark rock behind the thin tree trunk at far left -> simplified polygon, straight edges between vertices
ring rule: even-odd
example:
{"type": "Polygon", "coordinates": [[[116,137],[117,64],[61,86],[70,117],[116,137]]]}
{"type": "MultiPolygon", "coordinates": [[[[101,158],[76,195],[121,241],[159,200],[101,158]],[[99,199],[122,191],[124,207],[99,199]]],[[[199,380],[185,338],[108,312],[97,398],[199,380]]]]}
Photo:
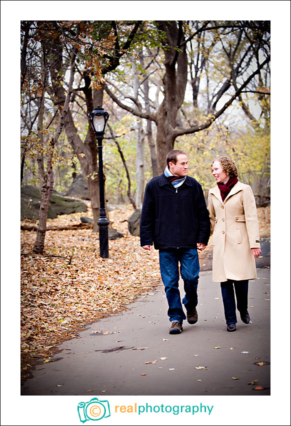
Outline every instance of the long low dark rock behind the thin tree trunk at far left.
{"type": "MultiPolygon", "coordinates": [[[[38,219],[40,190],[31,185],[20,189],[20,219],[38,219]]],[[[51,194],[47,218],[54,219],[57,215],[87,211],[86,204],[81,200],[51,194]]]]}

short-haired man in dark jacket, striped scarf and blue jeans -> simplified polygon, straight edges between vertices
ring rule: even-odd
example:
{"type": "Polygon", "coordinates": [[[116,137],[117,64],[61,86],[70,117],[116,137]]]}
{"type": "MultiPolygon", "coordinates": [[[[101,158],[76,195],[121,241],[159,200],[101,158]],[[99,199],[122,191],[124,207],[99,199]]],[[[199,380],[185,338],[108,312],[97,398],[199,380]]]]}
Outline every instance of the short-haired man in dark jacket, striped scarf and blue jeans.
{"type": "Polygon", "coordinates": [[[159,250],[159,267],[172,325],[169,334],[182,331],[183,320],[195,324],[199,278],[198,250],[204,250],[210,222],[201,185],[187,176],[188,160],[184,151],[173,150],[166,156],[164,173],[151,179],[144,192],[140,217],[140,245],[159,250]],[[178,289],[179,269],[184,282],[184,314],[178,289]]]}

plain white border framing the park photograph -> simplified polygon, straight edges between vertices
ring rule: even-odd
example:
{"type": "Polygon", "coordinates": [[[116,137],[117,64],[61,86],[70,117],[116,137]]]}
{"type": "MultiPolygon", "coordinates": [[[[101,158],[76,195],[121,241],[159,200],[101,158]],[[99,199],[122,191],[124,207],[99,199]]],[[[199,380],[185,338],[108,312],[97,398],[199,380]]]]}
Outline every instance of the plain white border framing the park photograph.
{"type": "MultiPolygon", "coordinates": [[[[1,1],[1,389],[2,425],[66,425],[73,398],[20,397],[19,386],[19,26],[20,20],[271,20],[271,353],[270,397],[208,397],[223,417],[213,423],[289,425],[290,2],[289,1],[1,1]],[[70,8],[68,9],[68,6],[70,8]],[[283,185],[284,183],[284,185],[283,185]],[[286,195],[286,189],[288,190],[286,195]],[[284,191],[284,192],[283,192],[284,191]],[[286,330],[283,337],[283,331],[286,330]],[[286,349],[288,348],[288,349],[286,349]],[[284,350],[284,352],[282,352],[284,350]],[[8,355],[7,355],[8,354],[8,355]],[[282,362],[284,365],[282,365],[282,362]],[[8,364],[9,363],[9,364],[8,364]],[[277,368],[275,367],[277,365],[277,368]],[[8,368],[6,368],[8,366],[8,368]],[[4,371],[5,370],[5,371],[4,371]],[[16,397],[16,405],[15,405],[16,397]],[[61,401],[61,403],[60,403],[61,401]],[[28,408],[33,406],[34,417],[28,408]],[[243,407],[243,410],[241,410],[243,407]],[[285,408],[284,408],[285,407],[285,408]],[[13,416],[21,414],[19,420],[13,416]],[[51,413],[57,413],[51,417],[51,413]],[[43,416],[43,414],[46,416],[43,416]],[[47,417],[48,416],[48,417],[47,417]],[[278,416],[280,423],[278,422],[278,416]],[[47,418],[46,418],[47,417],[47,418]],[[41,420],[43,419],[43,420],[41,420]],[[55,420],[53,420],[55,419],[55,420]],[[49,423],[50,422],[50,423],[49,423]],[[228,423],[229,422],[229,423],[228,423]],[[242,422],[242,423],[240,423],[242,422]],[[243,423],[244,422],[244,423],[243,423]]],[[[186,397],[175,397],[186,404],[186,397]]],[[[158,397],[157,397],[158,399],[158,397]]],[[[79,402],[79,401],[77,401],[79,402]]],[[[165,419],[164,419],[165,420],[165,419]]],[[[204,421],[203,421],[204,422],[204,421]]],[[[75,424],[80,424],[76,422],[75,424]]],[[[128,424],[128,423],[127,423],[128,424]]],[[[163,420],[160,425],[165,424],[163,420]]],[[[168,423],[169,424],[169,423],[168,423]]]]}

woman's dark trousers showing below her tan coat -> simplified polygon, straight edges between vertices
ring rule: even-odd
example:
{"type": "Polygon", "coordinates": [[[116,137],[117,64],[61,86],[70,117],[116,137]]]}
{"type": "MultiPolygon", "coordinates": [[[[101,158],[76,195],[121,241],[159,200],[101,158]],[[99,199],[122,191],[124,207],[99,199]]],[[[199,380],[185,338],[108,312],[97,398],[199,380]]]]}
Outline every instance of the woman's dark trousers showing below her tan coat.
{"type": "Polygon", "coordinates": [[[220,283],[226,324],[237,323],[233,286],[235,290],[237,310],[242,315],[244,315],[247,311],[248,280],[227,280],[220,283]]]}

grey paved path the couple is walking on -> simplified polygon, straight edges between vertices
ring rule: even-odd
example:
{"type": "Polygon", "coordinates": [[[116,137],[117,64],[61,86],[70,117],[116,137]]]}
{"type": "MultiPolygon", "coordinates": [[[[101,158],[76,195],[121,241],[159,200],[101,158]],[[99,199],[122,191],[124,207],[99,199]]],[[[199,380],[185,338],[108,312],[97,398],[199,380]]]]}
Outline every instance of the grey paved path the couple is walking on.
{"type": "Polygon", "coordinates": [[[257,274],[249,285],[251,323],[238,316],[236,332],[226,332],[219,284],[204,271],[197,324],[185,321],[180,335],[168,334],[160,285],[127,311],[90,324],[78,339],[61,344],[53,357],[58,360],[39,364],[21,395],[270,395],[269,267],[257,274]]]}

